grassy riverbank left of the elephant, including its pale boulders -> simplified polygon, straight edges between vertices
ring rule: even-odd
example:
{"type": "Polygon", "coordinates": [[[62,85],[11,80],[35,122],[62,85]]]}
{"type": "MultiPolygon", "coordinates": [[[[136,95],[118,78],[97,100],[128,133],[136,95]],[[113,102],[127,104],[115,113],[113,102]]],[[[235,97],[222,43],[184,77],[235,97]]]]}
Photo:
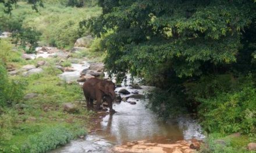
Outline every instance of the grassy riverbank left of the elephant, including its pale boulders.
{"type": "Polygon", "coordinates": [[[19,103],[0,109],[0,152],[45,152],[84,137],[95,112],[87,111],[79,83],[67,82],[59,75],[72,64],[90,61],[83,57],[88,50],[50,48],[48,52],[38,50],[34,59],[33,54],[25,54],[8,39],[1,39],[1,45],[6,44],[8,77],[24,81],[25,89],[19,103]]]}

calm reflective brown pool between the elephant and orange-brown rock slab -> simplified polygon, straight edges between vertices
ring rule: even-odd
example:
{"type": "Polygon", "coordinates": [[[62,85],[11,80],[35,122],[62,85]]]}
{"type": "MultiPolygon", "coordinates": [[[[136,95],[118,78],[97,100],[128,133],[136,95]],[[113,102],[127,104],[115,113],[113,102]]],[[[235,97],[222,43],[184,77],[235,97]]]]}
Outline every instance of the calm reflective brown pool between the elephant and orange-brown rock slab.
{"type": "Polygon", "coordinates": [[[189,116],[177,121],[159,121],[157,115],[145,109],[145,101],[136,102],[136,105],[127,102],[116,104],[114,109],[118,112],[105,116],[99,127],[102,130],[97,134],[116,144],[144,139],[155,143],[203,139],[200,126],[189,116]]]}

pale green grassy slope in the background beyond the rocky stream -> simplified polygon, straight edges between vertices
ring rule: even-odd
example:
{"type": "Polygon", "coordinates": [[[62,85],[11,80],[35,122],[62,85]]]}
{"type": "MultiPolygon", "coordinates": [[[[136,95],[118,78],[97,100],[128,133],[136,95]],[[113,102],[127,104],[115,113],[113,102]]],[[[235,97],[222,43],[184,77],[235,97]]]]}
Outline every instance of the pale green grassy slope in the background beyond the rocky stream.
{"type": "MultiPolygon", "coordinates": [[[[60,3],[46,1],[44,8],[38,8],[38,13],[31,9],[26,2],[18,2],[18,8],[13,9],[11,16],[0,12],[0,28],[3,31],[15,31],[19,27],[35,28],[40,31],[40,45],[71,48],[77,38],[87,35],[86,29],[79,28],[79,22],[90,17],[98,16],[101,8],[66,7],[60,3]]],[[[0,10],[3,6],[0,5],[0,10]]]]}

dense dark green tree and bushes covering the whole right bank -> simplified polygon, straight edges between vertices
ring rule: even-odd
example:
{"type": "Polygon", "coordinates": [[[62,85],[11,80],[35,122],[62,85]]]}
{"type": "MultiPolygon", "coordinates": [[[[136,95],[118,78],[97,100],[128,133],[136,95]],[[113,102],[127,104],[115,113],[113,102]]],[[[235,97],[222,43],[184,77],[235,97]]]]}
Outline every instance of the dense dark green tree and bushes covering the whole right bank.
{"type": "Polygon", "coordinates": [[[163,89],[150,97],[154,111],[168,116],[183,106],[199,111],[210,132],[255,132],[254,1],[99,5],[103,14],[81,25],[101,37],[110,74],[122,80],[130,72],[163,89]],[[247,75],[251,83],[242,86],[247,75]]]}

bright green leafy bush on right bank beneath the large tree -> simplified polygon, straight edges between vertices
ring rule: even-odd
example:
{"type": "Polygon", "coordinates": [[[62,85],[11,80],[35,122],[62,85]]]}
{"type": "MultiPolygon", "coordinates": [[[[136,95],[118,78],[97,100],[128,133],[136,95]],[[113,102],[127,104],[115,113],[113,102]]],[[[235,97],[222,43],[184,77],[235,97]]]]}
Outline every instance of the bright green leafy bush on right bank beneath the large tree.
{"type": "Polygon", "coordinates": [[[199,114],[202,126],[208,132],[246,134],[256,133],[256,89],[247,84],[230,93],[218,93],[216,97],[201,99],[199,114]]]}

